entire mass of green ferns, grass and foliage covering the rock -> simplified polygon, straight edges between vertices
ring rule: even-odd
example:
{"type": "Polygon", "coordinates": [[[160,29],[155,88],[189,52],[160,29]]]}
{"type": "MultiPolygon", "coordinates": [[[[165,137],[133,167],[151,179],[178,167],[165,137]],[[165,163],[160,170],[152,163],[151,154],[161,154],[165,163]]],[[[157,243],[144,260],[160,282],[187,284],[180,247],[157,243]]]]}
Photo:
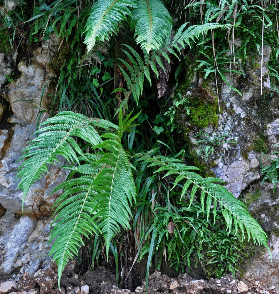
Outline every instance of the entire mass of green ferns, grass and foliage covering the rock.
{"type": "MultiPolygon", "coordinates": [[[[16,49],[16,41],[38,43],[53,33],[61,40],[61,53],[50,64],[58,77],[53,101],[58,115],[36,132],[38,137],[26,148],[17,174],[24,202],[30,186],[48,171],[48,164],[57,163],[61,156],[69,162],[64,168],[70,176],[55,189],[63,188],[63,193],[55,203],[51,232],[59,280],[84,238],[92,240],[93,260],[98,263],[105,248],[105,258],[109,254],[115,258],[118,273],[128,229],[134,231],[136,256],[148,252],[147,275],[159,249],[168,253],[177,269],[189,265],[196,255],[196,262],[209,265],[207,275],[235,273],[244,228],[248,238],[251,234],[255,243],[268,248],[262,228],[243,203],[216,184],[221,180],[202,177],[199,168],[184,163],[184,151],[174,151],[172,131],[183,125],[181,116],[196,128],[218,125],[218,97],[206,83],[198,86],[197,81],[186,96],[194,67],[205,80],[218,77],[241,96],[228,73],[245,77],[241,60],[245,62],[247,51],[253,47],[260,52],[264,38],[278,57],[277,5],[192,1],[184,9],[181,2],[187,20],[179,20],[182,23],[175,29],[160,0],[35,0],[32,5],[30,11],[27,5],[12,11],[0,7],[0,46],[5,51],[16,49]],[[238,48],[234,36],[241,39],[238,48]],[[192,59],[181,85],[183,66],[190,66],[192,59]],[[176,95],[163,111],[164,98],[168,100],[174,86],[171,81],[176,83],[176,95]],[[161,100],[154,103],[157,97],[161,100]],[[171,190],[179,193],[179,201],[170,196],[171,190]],[[217,256],[221,256],[220,264],[217,256]]],[[[272,89],[278,90],[278,63],[269,69],[272,89]]],[[[261,136],[253,146],[267,150],[261,136]]],[[[267,177],[271,175],[265,171],[267,177]]],[[[274,179],[275,169],[272,174],[274,179]]]]}

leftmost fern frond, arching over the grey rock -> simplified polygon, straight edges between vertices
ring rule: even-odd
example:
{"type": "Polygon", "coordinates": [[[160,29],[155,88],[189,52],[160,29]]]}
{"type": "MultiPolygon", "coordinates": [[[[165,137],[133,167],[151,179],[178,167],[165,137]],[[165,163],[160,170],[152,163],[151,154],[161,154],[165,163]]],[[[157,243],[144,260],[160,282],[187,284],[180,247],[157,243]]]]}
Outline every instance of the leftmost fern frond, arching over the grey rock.
{"type": "Polygon", "coordinates": [[[78,153],[84,157],[73,137],[77,136],[84,141],[96,145],[102,142],[96,127],[109,129],[117,128],[116,125],[105,120],[87,118],[82,114],[64,111],[53,118],[47,119],[34,134],[39,134],[25,149],[25,154],[19,159],[26,159],[21,163],[17,171],[17,179],[20,182],[17,188],[23,191],[23,203],[27,192],[36,180],[48,172],[47,164],[59,162],[57,156],[64,157],[68,162],[79,164],[78,153]],[[49,124],[49,125],[48,125],[49,124]]]}

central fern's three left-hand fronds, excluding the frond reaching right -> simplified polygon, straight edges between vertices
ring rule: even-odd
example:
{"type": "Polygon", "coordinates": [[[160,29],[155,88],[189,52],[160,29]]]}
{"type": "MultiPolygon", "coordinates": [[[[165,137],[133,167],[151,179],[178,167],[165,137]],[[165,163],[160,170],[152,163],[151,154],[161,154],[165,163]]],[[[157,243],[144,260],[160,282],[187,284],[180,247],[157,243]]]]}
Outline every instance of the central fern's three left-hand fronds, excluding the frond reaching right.
{"type": "Polygon", "coordinates": [[[43,123],[49,125],[36,132],[40,134],[30,142],[21,158],[27,158],[17,173],[23,202],[31,184],[47,172],[47,164],[58,161],[57,156],[70,163],[70,166],[64,166],[66,169],[80,174],[54,190],[64,189],[54,204],[58,207],[50,238],[50,241],[55,239],[50,254],[54,253],[53,258],[58,264],[58,283],[66,263],[83,244],[82,235],[102,235],[108,257],[111,240],[119,233],[120,227],[130,227],[130,204],[135,201],[135,183],[128,156],[121,145],[122,133],[136,118],[129,120],[129,117],[122,121],[120,111],[117,127],[105,120],[61,112],[43,123]],[[99,135],[99,128],[118,131],[99,135]],[[96,153],[83,154],[75,137],[87,142],[96,153]]]}

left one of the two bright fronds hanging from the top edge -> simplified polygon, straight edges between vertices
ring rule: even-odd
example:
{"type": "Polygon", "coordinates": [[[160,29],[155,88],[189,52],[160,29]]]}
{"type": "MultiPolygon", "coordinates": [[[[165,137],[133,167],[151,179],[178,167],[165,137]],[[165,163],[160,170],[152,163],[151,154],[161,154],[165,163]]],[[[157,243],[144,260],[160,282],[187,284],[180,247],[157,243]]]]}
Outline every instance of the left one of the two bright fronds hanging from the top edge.
{"type": "Polygon", "coordinates": [[[90,51],[96,40],[105,41],[119,31],[118,25],[131,15],[133,0],[99,0],[92,5],[85,30],[85,44],[90,51]]]}

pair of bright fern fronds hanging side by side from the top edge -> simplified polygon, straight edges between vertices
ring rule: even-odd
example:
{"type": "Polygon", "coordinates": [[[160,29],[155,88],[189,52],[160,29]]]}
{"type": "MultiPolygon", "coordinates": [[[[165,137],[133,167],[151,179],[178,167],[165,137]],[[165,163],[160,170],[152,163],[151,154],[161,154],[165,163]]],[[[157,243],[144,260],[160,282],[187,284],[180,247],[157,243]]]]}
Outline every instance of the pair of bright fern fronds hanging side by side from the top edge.
{"type": "Polygon", "coordinates": [[[119,24],[129,17],[137,44],[147,51],[160,49],[172,29],[172,17],[160,0],[99,0],[86,23],[85,44],[90,51],[96,40],[117,34],[119,24]]]}

